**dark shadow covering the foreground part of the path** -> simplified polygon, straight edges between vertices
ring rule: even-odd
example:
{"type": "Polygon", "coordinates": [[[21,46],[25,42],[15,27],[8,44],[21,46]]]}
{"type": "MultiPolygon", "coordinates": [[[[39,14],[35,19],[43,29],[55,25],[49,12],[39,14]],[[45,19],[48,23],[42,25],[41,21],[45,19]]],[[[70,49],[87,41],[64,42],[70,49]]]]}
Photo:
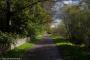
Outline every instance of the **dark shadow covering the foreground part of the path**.
{"type": "Polygon", "coordinates": [[[56,46],[44,46],[31,49],[24,55],[24,60],[62,60],[56,46]]]}

